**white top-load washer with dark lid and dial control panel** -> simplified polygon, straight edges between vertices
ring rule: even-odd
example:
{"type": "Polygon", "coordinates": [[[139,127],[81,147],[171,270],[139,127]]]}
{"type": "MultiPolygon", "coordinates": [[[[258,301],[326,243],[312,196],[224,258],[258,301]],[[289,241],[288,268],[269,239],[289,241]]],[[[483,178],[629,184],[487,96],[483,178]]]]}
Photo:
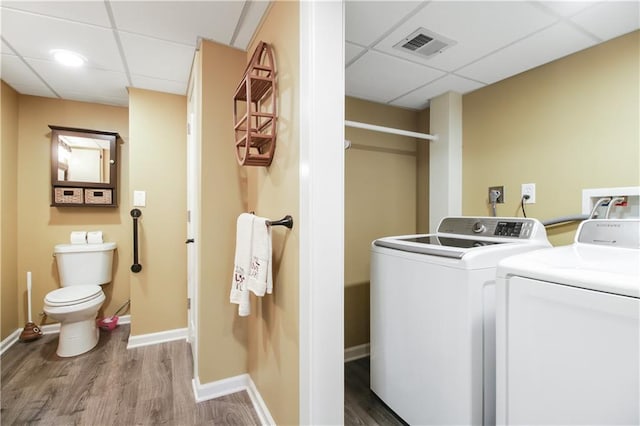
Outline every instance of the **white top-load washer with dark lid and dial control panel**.
{"type": "Polygon", "coordinates": [[[448,217],[371,247],[371,389],[415,425],[495,423],[495,274],[550,247],[535,219],[448,217]]]}

